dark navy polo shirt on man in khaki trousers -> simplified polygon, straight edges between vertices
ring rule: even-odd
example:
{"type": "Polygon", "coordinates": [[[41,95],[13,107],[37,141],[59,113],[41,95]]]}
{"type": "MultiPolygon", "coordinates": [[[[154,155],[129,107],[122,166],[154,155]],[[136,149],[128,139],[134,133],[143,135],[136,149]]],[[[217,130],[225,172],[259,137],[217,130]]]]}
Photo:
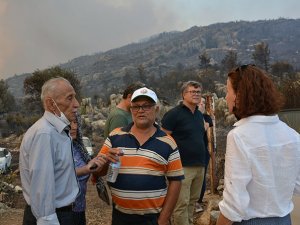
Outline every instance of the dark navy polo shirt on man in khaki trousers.
{"type": "Polygon", "coordinates": [[[172,131],[183,166],[205,166],[205,129],[203,115],[198,109],[192,113],[180,104],[168,111],[161,123],[164,129],[172,131]]]}

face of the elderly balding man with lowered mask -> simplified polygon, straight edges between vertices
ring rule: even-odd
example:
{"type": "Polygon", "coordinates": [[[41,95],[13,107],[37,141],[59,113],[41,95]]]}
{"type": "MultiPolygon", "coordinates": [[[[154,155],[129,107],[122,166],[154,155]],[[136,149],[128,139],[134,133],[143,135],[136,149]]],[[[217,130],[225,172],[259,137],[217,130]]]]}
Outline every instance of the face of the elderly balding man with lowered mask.
{"type": "MultiPolygon", "coordinates": [[[[76,93],[73,87],[67,82],[58,84],[58,95],[55,102],[61,112],[65,114],[69,121],[74,121],[79,103],[76,99],[76,93]]],[[[57,108],[57,107],[56,107],[57,108]]],[[[59,110],[56,109],[56,114],[60,115],[59,110]]]]}

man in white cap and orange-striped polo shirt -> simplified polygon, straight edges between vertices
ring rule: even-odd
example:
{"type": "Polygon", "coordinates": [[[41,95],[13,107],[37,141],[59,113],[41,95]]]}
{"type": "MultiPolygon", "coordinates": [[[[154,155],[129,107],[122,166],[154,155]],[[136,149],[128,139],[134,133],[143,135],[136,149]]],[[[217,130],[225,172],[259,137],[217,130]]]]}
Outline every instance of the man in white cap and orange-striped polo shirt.
{"type": "Polygon", "coordinates": [[[167,225],[176,205],[183,170],[175,141],[155,124],[157,101],[152,90],[136,90],[133,123],[111,132],[99,153],[121,162],[116,182],[109,183],[112,225],[167,225]],[[118,156],[120,149],[123,156],[118,156]]]}

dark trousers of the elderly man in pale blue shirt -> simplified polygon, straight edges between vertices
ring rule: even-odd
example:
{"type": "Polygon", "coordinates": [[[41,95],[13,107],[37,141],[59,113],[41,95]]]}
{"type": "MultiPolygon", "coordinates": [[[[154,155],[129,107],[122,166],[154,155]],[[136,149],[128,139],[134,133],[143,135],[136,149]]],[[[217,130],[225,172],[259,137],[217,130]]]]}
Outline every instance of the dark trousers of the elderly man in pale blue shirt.
{"type": "MultiPolygon", "coordinates": [[[[72,210],[56,211],[56,214],[60,225],[75,225],[72,210]]],[[[23,216],[23,225],[36,225],[36,223],[37,221],[32,214],[31,207],[26,205],[23,216]]]]}

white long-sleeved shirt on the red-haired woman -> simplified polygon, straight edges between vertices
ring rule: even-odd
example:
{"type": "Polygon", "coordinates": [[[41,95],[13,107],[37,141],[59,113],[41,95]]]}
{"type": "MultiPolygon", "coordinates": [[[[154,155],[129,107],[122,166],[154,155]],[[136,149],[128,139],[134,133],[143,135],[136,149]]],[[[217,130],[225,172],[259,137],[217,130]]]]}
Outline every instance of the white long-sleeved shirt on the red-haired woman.
{"type": "Polygon", "coordinates": [[[225,189],[219,203],[231,221],[283,217],[300,194],[299,134],[278,116],[250,116],[227,136],[225,189]]]}

